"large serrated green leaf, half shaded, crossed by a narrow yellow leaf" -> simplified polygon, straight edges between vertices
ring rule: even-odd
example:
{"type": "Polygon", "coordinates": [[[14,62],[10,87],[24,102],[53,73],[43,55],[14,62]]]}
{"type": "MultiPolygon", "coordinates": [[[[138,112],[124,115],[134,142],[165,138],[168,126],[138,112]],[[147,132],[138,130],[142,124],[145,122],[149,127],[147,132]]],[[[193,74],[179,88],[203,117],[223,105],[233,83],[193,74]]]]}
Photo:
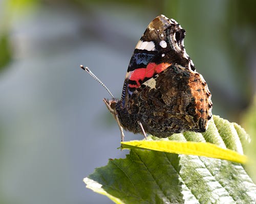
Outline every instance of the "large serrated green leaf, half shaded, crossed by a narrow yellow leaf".
{"type": "MultiPolygon", "coordinates": [[[[248,135],[239,125],[218,116],[211,120],[204,134],[186,132],[171,138],[183,142],[193,139],[216,142],[240,154],[243,143],[248,142],[248,135]]],[[[96,168],[84,182],[116,203],[256,202],[256,185],[241,164],[155,150],[131,149],[125,159],[110,160],[108,165],[96,168]]]]}

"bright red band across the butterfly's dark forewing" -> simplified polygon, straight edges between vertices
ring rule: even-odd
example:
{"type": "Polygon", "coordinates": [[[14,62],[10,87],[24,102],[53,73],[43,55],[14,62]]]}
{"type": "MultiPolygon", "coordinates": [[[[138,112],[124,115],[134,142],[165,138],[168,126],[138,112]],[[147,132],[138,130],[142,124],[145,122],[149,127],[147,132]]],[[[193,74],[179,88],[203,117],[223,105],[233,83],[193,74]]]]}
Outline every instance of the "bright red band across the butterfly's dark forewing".
{"type": "Polygon", "coordinates": [[[167,67],[169,67],[172,64],[169,63],[161,63],[161,64],[156,64],[156,63],[148,63],[146,68],[137,68],[135,69],[129,80],[135,81],[136,84],[129,84],[129,87],[131,88],[139,88],[140,87],[140,82],[139,81],[144,81],[145,78],[152,78],[154,77],[155,74],[160,73],[167,67]]]}

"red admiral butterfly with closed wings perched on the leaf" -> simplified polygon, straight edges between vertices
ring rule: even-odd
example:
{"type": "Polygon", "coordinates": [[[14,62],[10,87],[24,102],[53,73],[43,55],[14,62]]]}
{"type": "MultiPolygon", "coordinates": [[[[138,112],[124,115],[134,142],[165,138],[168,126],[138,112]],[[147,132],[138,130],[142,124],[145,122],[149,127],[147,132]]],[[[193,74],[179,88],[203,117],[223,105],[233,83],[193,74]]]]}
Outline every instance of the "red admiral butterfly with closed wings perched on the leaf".
{"type": "Polygon", "coordinates": [[[205,132],[212,116],[211,93],[186,54],[184,37],[174,19],[156,17],[135,47],[121,99],[103,99],[119,125],[121,141],[123,129],[159,138],[205,132]]]}

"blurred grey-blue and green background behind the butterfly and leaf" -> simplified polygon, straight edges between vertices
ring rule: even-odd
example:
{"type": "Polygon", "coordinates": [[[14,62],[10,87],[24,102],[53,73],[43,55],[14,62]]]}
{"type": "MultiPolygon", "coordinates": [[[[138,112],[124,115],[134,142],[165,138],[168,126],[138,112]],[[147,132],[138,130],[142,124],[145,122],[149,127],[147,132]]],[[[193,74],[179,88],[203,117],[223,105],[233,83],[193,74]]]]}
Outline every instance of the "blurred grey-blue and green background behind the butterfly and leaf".
{"type": "Polygon", "coordinates": [[[120,97],[133,49],[159,14],[186,30],[213,113],[250,133],[256,181],[255,8],[249,0],[0,0],[0,203],[112,203],[82,179],[128,151],[117,149],[119,129],[102,102],[109,94],[79,65],[120,97]]]}

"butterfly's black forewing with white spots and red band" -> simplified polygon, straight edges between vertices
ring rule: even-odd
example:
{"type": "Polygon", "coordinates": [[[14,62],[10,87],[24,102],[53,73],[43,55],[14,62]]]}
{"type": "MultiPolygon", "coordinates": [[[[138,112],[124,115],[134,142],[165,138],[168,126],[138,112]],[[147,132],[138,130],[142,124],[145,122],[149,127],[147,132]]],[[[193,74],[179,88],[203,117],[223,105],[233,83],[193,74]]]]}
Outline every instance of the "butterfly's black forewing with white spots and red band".
{"type": "Polygon", "coordinates": [[[137,43],[125,75],[122,106],[127,98],[145,81],[159,74],[172,64],[179,64],[195,70],[194,64],[186,54],[183,40],[185,30],[174,20],[164,15],[156,17],[148,24],[137,43]]]}

